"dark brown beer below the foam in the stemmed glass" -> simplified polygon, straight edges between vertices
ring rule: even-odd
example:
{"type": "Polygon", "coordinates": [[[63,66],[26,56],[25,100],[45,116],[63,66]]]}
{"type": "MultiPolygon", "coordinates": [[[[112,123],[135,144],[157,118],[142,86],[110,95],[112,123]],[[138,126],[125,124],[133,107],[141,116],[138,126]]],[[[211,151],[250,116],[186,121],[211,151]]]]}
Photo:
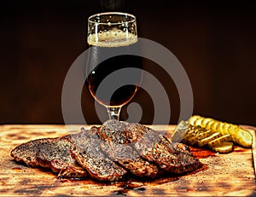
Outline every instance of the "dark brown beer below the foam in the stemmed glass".
{"type": "MultiPolygon", "coordinates": [[[[134,67],[140,69],[143,68],[142,58],[137,55],[117,55],[99,63],[102,55],[106,55],[107,53],[114,55],[116,54],[116,51],[122,51],[124,52],[123,54],[125,54],[125,52],[129,52],[131,49],[137,50],[137,43],[131,43],[127,46],[119,47],[90,46],[90,49],[91,51],[88,61],[89,65],[87,67],[93,67],[93,69],[87,77],[86,84],[90,90],[91,95],[95,97],[96,101],[102,103],[105,106],[111,107],[122,106],[125,103],[131,101],[132,97],[136,94],[139,88],[138,85],[140,85],[141,83],[143,75],[142,70],[140,72],[137,72],[136,74],[132,74],[132,76],[129,76],[129,81],[131,81],[131,84],[126,84],[115,90],[110,98],[110,101],[108,99],[108,96],[105,96],[104,94],[96,94],[96,90],[102,83],[102,80],[108,77],[108,75],[112,72],[127,67],[134,67]]],[[[125,76],[125,73],[123,74],[123,77],[127,78],[127,76],[125,76]]],[[[122,78],[122,76],[119,76],[119,79],[117,80],[120,80],[120,78],[122,78]]],[[[119,82],[117,81],[117,83],[119,82]]],[[[104,91],[108,92],[108,88],[110,87],[107,86],[107,90],[104,91]]]]}

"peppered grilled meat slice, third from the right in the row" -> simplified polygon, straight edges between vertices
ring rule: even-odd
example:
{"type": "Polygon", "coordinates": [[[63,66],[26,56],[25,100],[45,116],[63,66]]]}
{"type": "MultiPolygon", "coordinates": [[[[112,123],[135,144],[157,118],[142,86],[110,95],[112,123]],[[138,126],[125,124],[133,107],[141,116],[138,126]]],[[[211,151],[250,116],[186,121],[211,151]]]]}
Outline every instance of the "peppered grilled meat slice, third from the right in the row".
{"type": "Polygon", "coordinates": [[[100,148],[100,141],[101,139],[96,135],[94,137],[81,135],[73,142],[71,153],[89,172],[90,177],[100,181],[119,181],[127,171],[108,159],[100,148]]]}

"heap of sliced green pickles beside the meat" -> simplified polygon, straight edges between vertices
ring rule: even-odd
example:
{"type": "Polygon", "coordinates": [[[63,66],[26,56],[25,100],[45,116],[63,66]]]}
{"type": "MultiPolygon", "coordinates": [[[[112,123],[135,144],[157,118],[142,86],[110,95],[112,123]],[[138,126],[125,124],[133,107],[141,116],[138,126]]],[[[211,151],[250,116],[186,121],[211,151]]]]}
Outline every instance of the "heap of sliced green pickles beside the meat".
{"type": "Polygon", "coordinates": [[[250,148],[253,144],[252,134],[239,125],[204,118],[200,115],[191,116],[186,124],[183,132],[178,132],[180,125],[177,126],[172,136],[190,146],[207,146],[215,152],[227,154],[233,150],[233,142],[245,148],[250,148]]]}

